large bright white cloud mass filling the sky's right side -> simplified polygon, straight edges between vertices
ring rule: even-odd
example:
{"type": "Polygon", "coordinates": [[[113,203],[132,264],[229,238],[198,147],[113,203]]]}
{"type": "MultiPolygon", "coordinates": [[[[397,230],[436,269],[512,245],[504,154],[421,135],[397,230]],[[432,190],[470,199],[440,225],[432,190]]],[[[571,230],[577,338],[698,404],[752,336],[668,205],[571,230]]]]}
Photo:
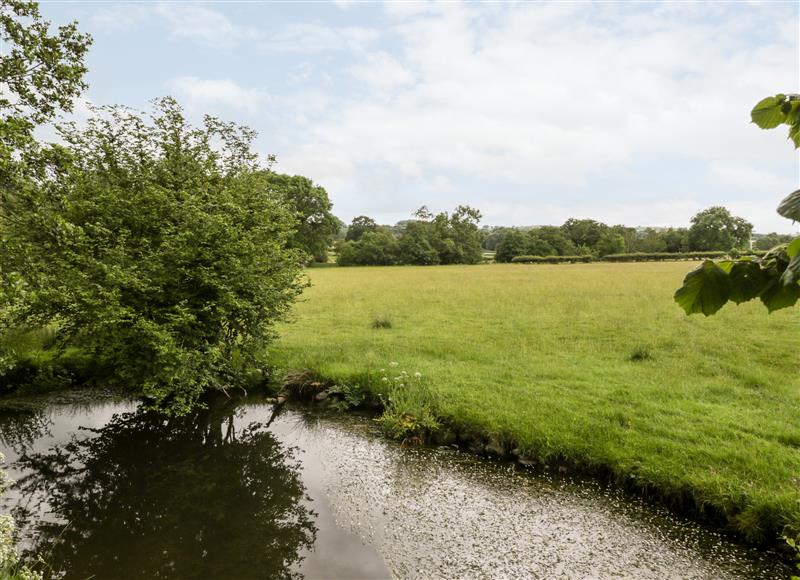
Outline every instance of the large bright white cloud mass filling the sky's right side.
{"type": "Polygon", "coordinates": [[[796,82],[798,39],[776,9],[796,21],[789,5],[388,3],[381,39],[390,42],[355,53],[348,68],[371,92],[340,99],[290,154],[298,166],[344,156],[361,168],[341,192],[347,200],[372,195],[364,184],[375,179],[361,171],[409,187],[438,175],[464,196],[471,182],[493,183],[493,195],[515,208],[485,212],[500,223],[526,203],[541,206],[520,193],[526,186],[599,192],[581,215],[685,223],[691,213],[671,200],[624,211],[609,176],[639,175],[643,158],[668,159],[674,167],[640,177],[662,190],[674,180],[677,197],[689,189],[681,160],[691,160],[703,168],[685,201],[692,211],[733,182],[760,184],[759,195],[788,184],[795,154],[748,114],[796,82]]]}

